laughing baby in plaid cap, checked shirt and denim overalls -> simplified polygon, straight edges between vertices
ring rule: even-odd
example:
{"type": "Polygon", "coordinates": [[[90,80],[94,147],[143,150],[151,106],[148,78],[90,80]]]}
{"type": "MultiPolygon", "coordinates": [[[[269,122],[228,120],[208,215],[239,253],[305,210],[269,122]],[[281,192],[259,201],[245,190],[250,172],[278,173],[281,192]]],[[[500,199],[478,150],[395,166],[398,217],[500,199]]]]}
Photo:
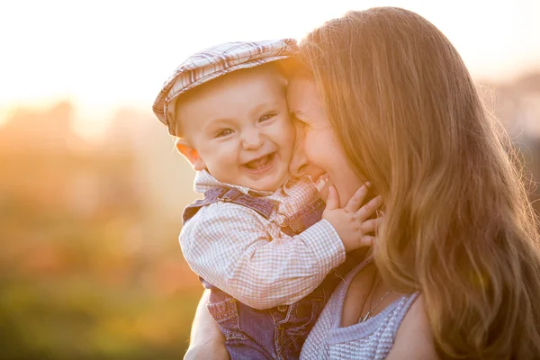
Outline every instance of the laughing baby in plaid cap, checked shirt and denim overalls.
{"type": "Polygon", "coordinates": [[[197,171],[204,198],[184,211],[180,244],[202,284],[232,359],[297,359],[340,276],[346,252],[371,244],[381,203],[345,209],[292,177],[294,124],[280,60],[294,40],[234,42],[188,58],[164,85],[154,112],[197,171]],[[332,271],[332,275],[329,273],[332,271]],[[328,276],[327,276],[328,275],[328,276]]]}

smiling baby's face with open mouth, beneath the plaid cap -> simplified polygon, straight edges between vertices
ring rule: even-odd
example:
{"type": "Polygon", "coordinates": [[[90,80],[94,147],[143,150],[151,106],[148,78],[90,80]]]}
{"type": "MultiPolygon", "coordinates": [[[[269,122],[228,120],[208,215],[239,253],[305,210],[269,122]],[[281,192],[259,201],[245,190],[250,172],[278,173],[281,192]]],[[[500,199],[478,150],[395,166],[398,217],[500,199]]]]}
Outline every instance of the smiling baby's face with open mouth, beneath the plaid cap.
{"type": "Polygon", "coordinates": [[[220,182],[275,191],[289,177],[295,130],[275,70],[223,76],[176,109],[184,138],[220,182]]]}

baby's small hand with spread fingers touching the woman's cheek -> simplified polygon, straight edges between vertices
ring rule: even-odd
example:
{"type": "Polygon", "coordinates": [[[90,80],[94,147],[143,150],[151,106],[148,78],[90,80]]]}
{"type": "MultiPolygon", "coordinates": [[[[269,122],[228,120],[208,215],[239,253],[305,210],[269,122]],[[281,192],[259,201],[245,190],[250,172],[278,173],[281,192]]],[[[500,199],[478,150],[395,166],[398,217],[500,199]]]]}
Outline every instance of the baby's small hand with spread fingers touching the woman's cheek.
{"type": "Polygon", "coordinates": [[[374,197],[361,207],[360,205],[364,202],[369,186],[369,183],[360,186],[358,191],[347,202],[345,208],[339,208],[336,188],[334,186],[329,188],[329,198],[326,209],[322,213],[322,218],[328,220],[334,229],[338,231],[339,238],[341,238],[345,246],[345,251],[374,245],[375,237],[367,234],[374,232],[383,218],[370,218],[383,204],[383,199],[381,196],[374,197]]]}

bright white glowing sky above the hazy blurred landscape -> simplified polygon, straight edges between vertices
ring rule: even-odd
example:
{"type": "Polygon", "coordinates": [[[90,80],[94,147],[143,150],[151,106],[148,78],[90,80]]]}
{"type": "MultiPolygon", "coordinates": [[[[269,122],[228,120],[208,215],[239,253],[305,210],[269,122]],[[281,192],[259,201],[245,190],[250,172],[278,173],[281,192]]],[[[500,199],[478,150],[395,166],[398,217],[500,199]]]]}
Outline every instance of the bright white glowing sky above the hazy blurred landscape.
{"type": "Polygon", "coordinates": [[[67,99],[99,133],[121,107],[150,112],[184,58],[230,40],[296,38],[347,10],[400,6],[434,23],[476,78],[540,69],[539,0],[17,0],[0,3],[0,124],[67,99]]]}

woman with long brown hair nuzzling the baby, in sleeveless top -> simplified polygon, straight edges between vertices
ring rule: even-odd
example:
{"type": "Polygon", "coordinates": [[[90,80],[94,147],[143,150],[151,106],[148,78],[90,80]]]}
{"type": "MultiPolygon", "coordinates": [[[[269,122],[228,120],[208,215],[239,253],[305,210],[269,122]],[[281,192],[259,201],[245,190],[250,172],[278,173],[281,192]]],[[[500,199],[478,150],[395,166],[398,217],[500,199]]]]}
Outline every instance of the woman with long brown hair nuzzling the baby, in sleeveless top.
{"type": "MultiPolygon", "coordinates": [[[[341,203],[369,180],[385,201],[374,260],[338,287],[302,357],[540,358],[536,218],[451,43],[375,8],[312,31],[299,59],[293,172],[329,174],[341,203]]],[[[195,333],[193,348],[215,354],[216,339],[195,333]]]]}

